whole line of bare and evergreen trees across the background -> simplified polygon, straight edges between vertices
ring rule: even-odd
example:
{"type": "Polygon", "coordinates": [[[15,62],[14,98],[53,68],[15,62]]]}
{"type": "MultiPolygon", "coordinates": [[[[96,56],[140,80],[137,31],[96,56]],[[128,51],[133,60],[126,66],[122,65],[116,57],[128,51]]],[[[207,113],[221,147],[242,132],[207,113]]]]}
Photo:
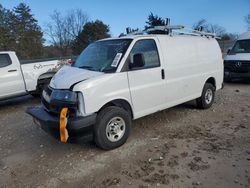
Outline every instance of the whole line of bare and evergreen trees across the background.
{"type": "MultiPolygon", "coordinates": [[[[245,22],[250,31],[250,14],[245,17],[245,22]]],[[[145,29],[165,24],[165,19],[150,13],[145,29]]],[[[222,40],[236,38],[235,34],[205,19],[196,22],[193,29],[216,33],[222,40]]],[[[81,9],[70,10],[64,15],[55,10],[42,29],[25,3],[12,10],[0,4],[0,51],[15,51],[20,59],[79,55],[90,43],[107,37],[110,37],[109,25],[101,20],[90,20],[81,9]]]]}

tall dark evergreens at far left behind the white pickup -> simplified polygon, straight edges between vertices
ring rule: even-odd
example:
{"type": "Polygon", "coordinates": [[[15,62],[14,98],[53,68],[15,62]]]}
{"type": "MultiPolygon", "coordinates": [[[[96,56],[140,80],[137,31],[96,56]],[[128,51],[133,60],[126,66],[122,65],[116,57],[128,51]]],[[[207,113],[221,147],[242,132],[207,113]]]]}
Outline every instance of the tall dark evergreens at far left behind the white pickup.
{"type": "Polygon", "coordinates": [[[14,50],[21,58],[43,53],[43,32],[31,9],[20,3],[13,10],[0,5],[0,50],[14,50]]]}

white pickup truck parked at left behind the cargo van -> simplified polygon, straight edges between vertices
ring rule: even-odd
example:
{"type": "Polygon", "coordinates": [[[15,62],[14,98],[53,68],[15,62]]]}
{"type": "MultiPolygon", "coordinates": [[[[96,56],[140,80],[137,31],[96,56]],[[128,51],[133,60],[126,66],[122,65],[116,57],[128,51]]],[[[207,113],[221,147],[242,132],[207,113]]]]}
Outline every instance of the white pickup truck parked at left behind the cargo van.
{"type": "Polygon", "coordinates": [[[15,52],[0,51],[0,100],[39,94],[59,66],[58,60],[22,64],[15,52]]]}

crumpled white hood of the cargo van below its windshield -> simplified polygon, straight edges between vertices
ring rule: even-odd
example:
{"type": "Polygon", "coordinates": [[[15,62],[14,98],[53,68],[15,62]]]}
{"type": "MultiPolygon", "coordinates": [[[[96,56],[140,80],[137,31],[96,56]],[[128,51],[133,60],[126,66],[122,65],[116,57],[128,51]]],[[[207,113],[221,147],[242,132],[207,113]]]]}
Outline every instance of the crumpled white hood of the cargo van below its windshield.
{"type": "Polygon", "coordinates": [[[77,67],[64,66],[53,76],[50,81],[50,87],[54,89],[70,89],[70,87],[76,83],[103,74],[103,72],[95,72],[77,67]]]}

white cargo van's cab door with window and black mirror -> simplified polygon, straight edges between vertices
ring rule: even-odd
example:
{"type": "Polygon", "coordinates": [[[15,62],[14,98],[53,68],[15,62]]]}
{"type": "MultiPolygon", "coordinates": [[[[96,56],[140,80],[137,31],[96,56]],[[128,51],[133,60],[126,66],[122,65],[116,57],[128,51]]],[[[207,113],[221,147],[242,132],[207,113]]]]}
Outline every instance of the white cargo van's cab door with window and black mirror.
{"type": "Polygon", "coordinates": [[[126,63],[129,65],[128,80],[135,118],[163,109],[166,82],[156,41],[138,40],[126,63]]]}

